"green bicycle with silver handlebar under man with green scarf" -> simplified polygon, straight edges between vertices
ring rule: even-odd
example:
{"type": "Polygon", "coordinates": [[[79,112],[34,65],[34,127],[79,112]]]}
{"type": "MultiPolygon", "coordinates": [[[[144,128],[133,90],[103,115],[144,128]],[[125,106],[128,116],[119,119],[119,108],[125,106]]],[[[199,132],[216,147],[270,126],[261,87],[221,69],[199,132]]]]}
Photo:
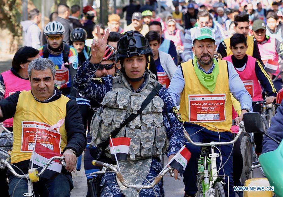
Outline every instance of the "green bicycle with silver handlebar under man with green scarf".
{"type": "MultiPolygon", "coordinates": [[[[220,154],[219,153],[215,153],[214,148],[217,145],[231,145],[234,144],[235,141],[238,140],[238,138],[240,137],[241,133],[244,131],[245,127],[244,127],[244,122],[241,121],[240,122],[240,129],[239,129],[239,133],[236,135],[235,139],[230,141],[230,142],[210,142],[210,143],[203,143],[203,142],[193,142],[190,138],[190,135],[186,132],[186,130],[184,130],[184,136],[186,137],[186,139],[193,145],[195,146],[210,146],[211,147],[211,153],[208,154],[208,148],[202,148],[201,150],[201,154],[202,157],[198,160],[198,173],[201,174],[201,183],[202,183],[202,189],[203,189],[203,196],[209,196],[209,194],[211,194],[211,192],[214,193],[213,191],[209,191],[210,189],[212,189],[212,186],[215,185],[215,183],[217,182],[221,182],[221,180],[223,180],[223,176],[218,176],[217,174],[217,165],[216,165],[216,157],[219,157],[220,154]],[[201,165],[203,165],[203,170],[201,165]]],[[[228,176],[226,176],[228,177],[228,176]]],[[[229,177],[228,177],[229,179],[229,177]]],[[[223,183],[222,183],[223,184],[223,183]]],[[[228,180],[228,184],[229,184],[229,180],[228,180]]],[[[229,187],[229,185],[228,185],[229,187]]],[[[228,196],[229,196],[229,191],[228,191],[228,196]]]]}

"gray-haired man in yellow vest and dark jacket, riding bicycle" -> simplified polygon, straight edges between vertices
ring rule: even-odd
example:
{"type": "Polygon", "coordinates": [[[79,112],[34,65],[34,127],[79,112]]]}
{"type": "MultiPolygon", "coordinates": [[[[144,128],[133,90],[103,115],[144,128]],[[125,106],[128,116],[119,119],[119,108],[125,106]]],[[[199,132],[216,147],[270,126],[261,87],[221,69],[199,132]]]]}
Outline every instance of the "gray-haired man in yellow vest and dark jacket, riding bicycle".
{"type": "MultiPolygon", "coordinates": [[[[46,154],[62,154],[66,167],[55,169],[50,165],[40,180],[33,183],[33,192],[35,196],[70,196],[73,189],[71,172],[75,172],[77,156],[87,144],[79,107],[76,100],[70,100],[54,87],[52,61],[46,58],[32,60],[28,77],[31,90],[17,91],[0,101],[0,122],[14,117],[11,164],[17,167],[14,170],[18,174],[26,174],[31,160],[34,166],[41,166],[50,158],[46,154]],[[37,147],[41,147],[41,154],[37,147]],[[38,153],[40,162],[31,159],[32,153],[38,153]]],[[[28,193],[27,179],[17,178],[9,170],[7,176],[10,196],[28,193]]]]}

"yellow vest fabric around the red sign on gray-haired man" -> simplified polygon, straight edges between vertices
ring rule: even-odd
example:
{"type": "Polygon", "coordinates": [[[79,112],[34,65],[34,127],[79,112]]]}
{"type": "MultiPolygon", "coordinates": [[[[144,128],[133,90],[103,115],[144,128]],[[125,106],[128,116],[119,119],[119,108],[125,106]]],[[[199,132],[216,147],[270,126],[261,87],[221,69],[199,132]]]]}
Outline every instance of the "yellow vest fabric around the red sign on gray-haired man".
{"type": "MultiPolygon", "coordinates": [[[[22,121],[37,121],[51,125],[56,124],[59,120],[66,117],[66,104],[70,99],[62,95],[59,99],[41,103],[35,100],[31,94],[31,90],[22,91],[19,95],[19,100],[16,107],[16,112],[13,121],[14,142],[11,153],[11,163],[18,163],[31,159],[31,152],[21,152],[22,140],[22,121]]],[[[61,134],[61,151],[64,150],[67,144],[67,132],[65,122],[60,127],[61,134]]]]}

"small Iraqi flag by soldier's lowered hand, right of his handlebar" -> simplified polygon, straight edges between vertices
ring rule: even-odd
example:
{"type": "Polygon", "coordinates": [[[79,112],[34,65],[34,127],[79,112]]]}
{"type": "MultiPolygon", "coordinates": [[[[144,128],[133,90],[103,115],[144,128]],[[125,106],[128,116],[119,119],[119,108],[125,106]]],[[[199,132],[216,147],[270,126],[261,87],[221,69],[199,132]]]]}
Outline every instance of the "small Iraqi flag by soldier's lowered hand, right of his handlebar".
{"type": "Polygon", "coordinates": [[[184,170],[191,158],[191,152],[183,146],[179,152],[173,157],[171,162],[168,163],[171,167],[178,170],[180,176],[183,176],[184,170]]]}

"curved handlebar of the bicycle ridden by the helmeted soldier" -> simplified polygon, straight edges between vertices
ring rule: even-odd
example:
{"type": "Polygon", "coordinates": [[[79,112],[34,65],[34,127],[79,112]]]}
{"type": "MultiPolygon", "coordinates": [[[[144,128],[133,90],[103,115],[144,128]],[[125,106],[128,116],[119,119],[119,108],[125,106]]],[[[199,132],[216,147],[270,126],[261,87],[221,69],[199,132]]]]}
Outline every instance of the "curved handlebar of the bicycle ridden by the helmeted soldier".
{"type": "MultiPolygon", "coordinates": [[[[133,188],[133,189],[136,189],[136,190],[140,190],[140,189],[150,189],[152,188],[153,186],[155,186],[160,180],[161,178],[169,171],[172,171],[173,170],[173,167],[167,167],[165,169],[163,169],[159,174],[158,176],[150,183],[150,185],[141,185],[141,184],[128,184],[124,177],[122,176],[121,172],[119,172],[117,170],[116,167],[114,167],[113,165],[110,165],[109,163],[104,163],[104,162],[101,162],[101,161],[96,161],[96,160],[93,160],[92,161],[92,164],[94,166],[98,166],[98,167],[105,167],[105,170],[106,168],[110,169],[111,171],[115,172],[116,173],[116,176],[117,178],[121,181],[121,183],[127,187],[127,188],[133,188]]],[[[90,174],[90,176],[94,175],[94,174],[100,174],[100,173],[105,173],[105,172],[102,172],[102,171],[98,171],[98,172],[93,172],[90,174]]]]}

